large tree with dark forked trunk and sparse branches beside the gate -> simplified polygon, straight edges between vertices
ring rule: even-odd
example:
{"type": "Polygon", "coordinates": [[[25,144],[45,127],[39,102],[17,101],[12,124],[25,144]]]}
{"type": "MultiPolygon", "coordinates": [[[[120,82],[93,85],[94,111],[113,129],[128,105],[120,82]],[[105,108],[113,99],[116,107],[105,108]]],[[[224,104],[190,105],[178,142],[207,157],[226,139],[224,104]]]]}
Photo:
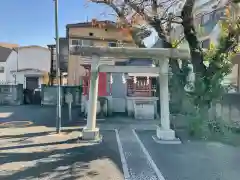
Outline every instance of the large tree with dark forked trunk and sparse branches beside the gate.
{"type": "MultiPolygon", "coordinates": [[[[195,86],[198,91],[195,92],[196,105],[211,103],[212,98],[209,97],[209,92],[213,91],[213,85],[219,84],[223,79],[223,76],[229,73],[229,60],[234,53],[235,46],[238,45],[238,37],[240,35],[240,20],[239,17],[235,19],[223,20],[222,33],[220,43],[217,47],[211,50],[210,55],[206,55],[201,47],[194,25],[194,5],[195,0],[92,0],[96,3],[104,3],[110,6],[117,14],[120,20],[120,24],[133,27],[132,37],[139,47],[144,47],[142,42],[146,36],[139,36],[139,34],[147,34],[147,28],[139,28],[141,26],[136,25],[136,20],[133,18],[129,21],[130,17],[138,17],[157,32],[158,37],[162,40],[162,48],[175,48],[176,43],[173,43],[171,39],[171,30],[174,24],[178,24],[183,28],[184,38],[188,42],[191,59],[190,62],[193,65],[193,71],[196,74],[195,86]],[[182,7],[179,6],[182,4],[182,7]],[[174,9],[174,7],[179,7],[174,9]],[[174,9],[174,10],[173,10],[174,9]],[[177,14],[175,12],[180,12],[177,14]],[[209,63],[206,65],[206,57],[209,63]],[[210,57],[210,58],[209,58],[210,57]],[[200,88],[201,87],[201,88],[200,88]],[[200,90],[199,90],[200,89],[200,90]]],[[[238,3],[238,1],[232,2],[232,4],[238,3]]],[[[228,17],[226,17],[228,18],[228,17]]],[[[131,18],[130,18],[131,19],[131,18]]],[[[180,38],[182,40],[182,38],[180,38]]],[[[180,40],[180,41],[181,41],[180,40]]],[[[175,78],[177,86],[183,87],[186,85],[186,77],[188,68],[186,68],[186,62],[182,61],[185,65],[180,66],[176,59],[170,59],[169,63],[175,78]]],[[[212,93],[213,94],[213,93],[212,93]]]]}

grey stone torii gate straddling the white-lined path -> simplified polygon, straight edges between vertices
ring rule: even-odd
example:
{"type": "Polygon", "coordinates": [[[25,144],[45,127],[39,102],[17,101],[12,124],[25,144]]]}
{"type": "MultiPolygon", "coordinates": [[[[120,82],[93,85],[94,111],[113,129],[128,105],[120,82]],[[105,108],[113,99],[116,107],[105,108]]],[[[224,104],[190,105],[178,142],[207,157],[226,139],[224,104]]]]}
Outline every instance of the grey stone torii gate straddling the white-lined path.
{"type": "Polygon", "coordinates": [[[81,47],[78,54],[92,57],[91,80],[89,92],[89,104],[87,114],[87,126],[83,130],[83,139],[95,140],[99,138],[99,129],[96,127],[96,110],[98,96],[98,72],[121,72],[121,73],[158,73],[160,80],[160,106],[161,121],[157,127],[157,137],[160,140],[175,140],[175,132],[170,129],[169,112],[169,90],[168,90],[168,68],[169,58],[190,58],[188,50],[166,49],[166,48],[133,48],[133,47],[81,47]],[[151,58],[159,61],[159,67],[143,66],[115,66],[100,62],[100,57],[127,57],[127,58],[151,58]]]}

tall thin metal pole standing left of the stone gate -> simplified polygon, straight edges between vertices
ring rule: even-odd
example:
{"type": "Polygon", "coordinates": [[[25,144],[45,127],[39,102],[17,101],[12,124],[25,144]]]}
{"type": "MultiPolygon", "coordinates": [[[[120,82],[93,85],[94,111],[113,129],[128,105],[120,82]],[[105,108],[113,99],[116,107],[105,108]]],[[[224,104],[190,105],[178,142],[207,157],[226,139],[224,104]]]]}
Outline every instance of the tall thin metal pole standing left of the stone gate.
{"type": "Polygon", "coordinates": [[[57,116],[56,132],[61,132],[61,83],[60,83],[60,62],[59,62],[59,35],[58,35],[58,0],[55,1],[55,35],[56,35],[56,66],[57,66],[57,116]]]}

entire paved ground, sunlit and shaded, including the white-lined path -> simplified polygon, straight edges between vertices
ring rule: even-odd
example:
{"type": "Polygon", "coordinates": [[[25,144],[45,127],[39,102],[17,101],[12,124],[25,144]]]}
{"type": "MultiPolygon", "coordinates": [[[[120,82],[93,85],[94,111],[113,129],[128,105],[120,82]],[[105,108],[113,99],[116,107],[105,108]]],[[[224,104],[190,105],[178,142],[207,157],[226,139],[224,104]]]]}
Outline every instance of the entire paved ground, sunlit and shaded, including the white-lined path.
{"type": "MultiPolygon", "coordinates": [[[[103,142],[83,143],[78,137],[86,122],[66,127],[66,113],[63,132],[56,135],[55,112],[55,107],[0,107],[0,122],[22,122],[8,128],[0,126],[0,179],[237,180],[240,177],[237,147],[196,141],[160,145],[152,139],[157,121],[128,118],[99,123],[103,142]],[[32,124],[27,125],[27,121],[32,124]],[[137,129],[136,134],[133,129],[137,129]]],[[[79,120],[77,109],[74,117],[79,120]]]]}

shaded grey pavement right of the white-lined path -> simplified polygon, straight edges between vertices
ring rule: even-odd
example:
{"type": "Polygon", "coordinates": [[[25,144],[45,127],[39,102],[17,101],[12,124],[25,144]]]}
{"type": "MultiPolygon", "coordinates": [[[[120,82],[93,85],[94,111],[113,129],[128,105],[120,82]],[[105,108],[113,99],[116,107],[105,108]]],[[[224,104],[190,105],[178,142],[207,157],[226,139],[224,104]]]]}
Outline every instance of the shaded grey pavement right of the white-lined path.
{"type": "Polygon", "coordinates": [[[211,142],[156,144],[154,131],[137,131],[166,180],[239,180],[240,148],[211,142]]]}

